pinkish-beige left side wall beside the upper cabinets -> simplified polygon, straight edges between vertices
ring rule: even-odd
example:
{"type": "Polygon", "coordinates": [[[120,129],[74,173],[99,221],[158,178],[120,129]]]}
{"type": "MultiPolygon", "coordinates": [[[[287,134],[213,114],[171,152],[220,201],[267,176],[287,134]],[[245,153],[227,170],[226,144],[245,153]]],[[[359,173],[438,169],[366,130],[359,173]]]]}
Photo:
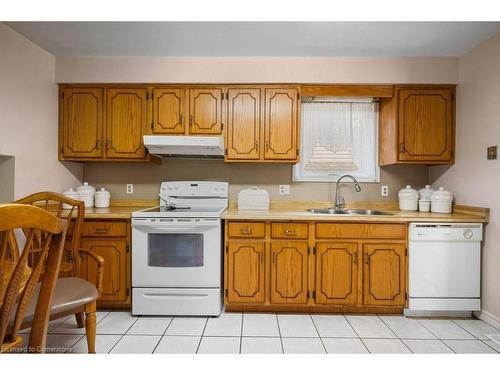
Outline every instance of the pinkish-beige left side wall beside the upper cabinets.
{"type": "Polygon", "coordinates": [[[54,56],[1,23],[0,51],[0,154],[15,157],[14,196],[77,184],[83,167],[57,161],[54,56]]]}

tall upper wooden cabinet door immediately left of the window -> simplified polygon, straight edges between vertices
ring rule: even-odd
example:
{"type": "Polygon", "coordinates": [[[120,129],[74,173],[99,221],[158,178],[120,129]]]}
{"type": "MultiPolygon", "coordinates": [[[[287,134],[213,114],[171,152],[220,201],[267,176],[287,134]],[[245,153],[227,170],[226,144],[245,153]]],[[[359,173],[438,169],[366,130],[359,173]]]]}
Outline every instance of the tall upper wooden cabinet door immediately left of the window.
{"type": "Polygon", "coordinates": [[[297,89],[266,89],[264,118],[264,159],[297,159],[297,106],[297,89]]]}

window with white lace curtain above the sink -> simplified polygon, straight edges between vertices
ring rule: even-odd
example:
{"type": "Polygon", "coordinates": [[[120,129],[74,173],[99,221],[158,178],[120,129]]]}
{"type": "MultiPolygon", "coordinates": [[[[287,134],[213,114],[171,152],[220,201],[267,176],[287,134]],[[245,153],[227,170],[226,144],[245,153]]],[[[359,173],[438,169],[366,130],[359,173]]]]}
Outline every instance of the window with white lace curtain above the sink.
{"type": "Polygon", "coordinates": [[[372,98],[308,98],[302,103],[301,158],[294,181],[336,181],[351,174],[378,182],[378,105],[372,98]]]}

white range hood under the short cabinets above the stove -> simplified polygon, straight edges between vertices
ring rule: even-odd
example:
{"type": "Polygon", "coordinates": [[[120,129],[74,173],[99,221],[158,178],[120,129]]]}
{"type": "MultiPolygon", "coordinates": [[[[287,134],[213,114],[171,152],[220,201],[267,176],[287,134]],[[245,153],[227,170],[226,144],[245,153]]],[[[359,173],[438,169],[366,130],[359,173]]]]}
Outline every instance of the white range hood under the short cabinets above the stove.
{"type": "Polygon", "coordinates": [[[150,154],[164,157],[217,158],[224,157],[224,137],[145,135],[144,146],[150,154]]]}

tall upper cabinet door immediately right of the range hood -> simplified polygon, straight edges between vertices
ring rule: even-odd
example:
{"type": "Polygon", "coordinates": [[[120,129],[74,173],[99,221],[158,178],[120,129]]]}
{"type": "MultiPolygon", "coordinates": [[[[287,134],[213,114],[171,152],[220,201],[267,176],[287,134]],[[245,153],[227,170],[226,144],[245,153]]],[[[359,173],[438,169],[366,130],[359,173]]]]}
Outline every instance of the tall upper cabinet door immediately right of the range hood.
{"type": "Polygon", "coordinates": [[[227,160],[260,158],[261,90],[228,89],[227,160]]]}

